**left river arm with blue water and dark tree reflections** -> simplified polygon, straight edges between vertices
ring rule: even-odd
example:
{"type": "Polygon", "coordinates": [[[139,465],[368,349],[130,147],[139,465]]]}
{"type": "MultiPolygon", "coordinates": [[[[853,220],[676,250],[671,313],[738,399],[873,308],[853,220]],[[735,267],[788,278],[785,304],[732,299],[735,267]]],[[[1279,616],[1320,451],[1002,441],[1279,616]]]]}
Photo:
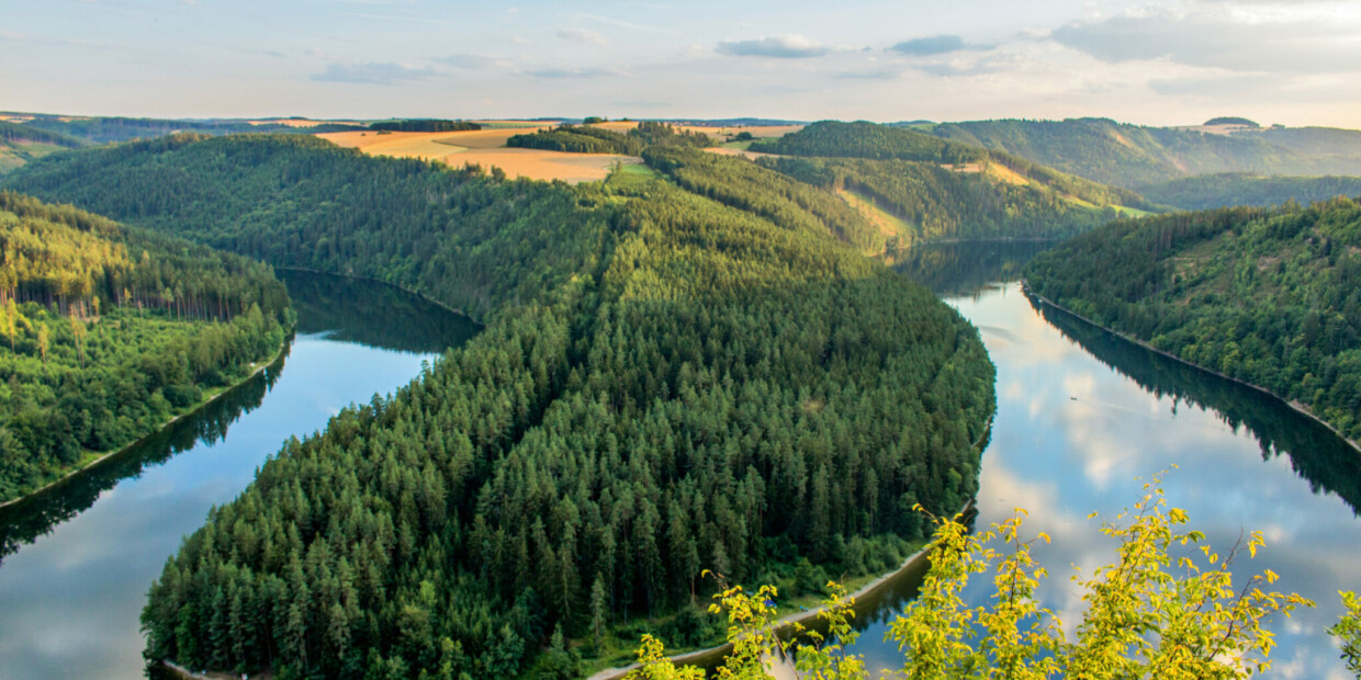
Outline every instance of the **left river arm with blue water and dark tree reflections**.
{"type": "Polygon", "coordinates": [[[289,437],[388,393],[478,325],[389,286],[280,272],[298,313],[287,355],[199,413],[0,510],[0,679],[143,677],[151,581],[208,509],[289,437]]]}

